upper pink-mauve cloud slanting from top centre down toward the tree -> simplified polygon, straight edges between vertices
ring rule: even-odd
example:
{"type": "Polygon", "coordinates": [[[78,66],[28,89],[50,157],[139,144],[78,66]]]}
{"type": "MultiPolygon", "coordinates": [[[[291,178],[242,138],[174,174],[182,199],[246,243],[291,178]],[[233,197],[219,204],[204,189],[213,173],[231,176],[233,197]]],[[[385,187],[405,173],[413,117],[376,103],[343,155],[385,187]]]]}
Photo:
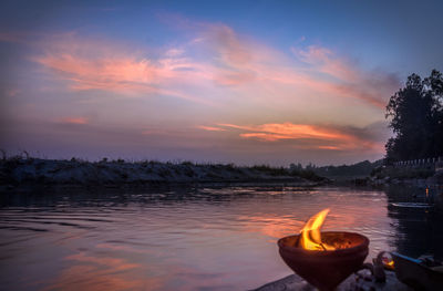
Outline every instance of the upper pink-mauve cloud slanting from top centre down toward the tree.
{"type": "MultiPolygon", "coordinates": [[[[209,27],[203,34],[203,42],[213,52],[216,67],[212,70],[212,77],[220,85],[278,87],[286,84],[291,86],[290,92],[319,92],[338,98],[354,98],[379,108],[384,108],[387,98],[399,86],[394,75],[363,70],[328,48],[291,48],[297,59],[309,65],[306,69],[293,63],[282,52],[250,40],[247,35],[239,35],[229,27],[209,27]]],[[[280,96],[272,97],[291,94],[278,93],[280,96]]]]}

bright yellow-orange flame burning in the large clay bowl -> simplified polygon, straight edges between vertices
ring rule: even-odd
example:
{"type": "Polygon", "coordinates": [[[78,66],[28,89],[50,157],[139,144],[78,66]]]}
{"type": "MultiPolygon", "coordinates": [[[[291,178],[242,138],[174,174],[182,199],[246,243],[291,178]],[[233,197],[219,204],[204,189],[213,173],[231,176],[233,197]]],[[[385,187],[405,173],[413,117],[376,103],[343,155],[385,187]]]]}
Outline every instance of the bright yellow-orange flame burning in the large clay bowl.
{"type": "Polygon", "coordinates": [[[317,215],[309,218],[300,233],[300,246],[306,250],[334,250],[333,246],[321,241],[320,228],[324,218],[329,212],[329,208],[321,210],[317,215]]]}

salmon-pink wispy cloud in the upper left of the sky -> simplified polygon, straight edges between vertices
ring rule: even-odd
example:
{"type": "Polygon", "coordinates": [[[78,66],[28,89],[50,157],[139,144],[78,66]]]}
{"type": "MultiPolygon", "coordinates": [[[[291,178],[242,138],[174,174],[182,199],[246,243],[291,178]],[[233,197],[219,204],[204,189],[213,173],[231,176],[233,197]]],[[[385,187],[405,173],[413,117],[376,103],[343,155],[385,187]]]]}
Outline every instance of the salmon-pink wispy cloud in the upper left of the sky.
{"type": "Polygon", "coordinates": [[[157,62],[127,56],[91,59],[75,53],[47,54],[34,61],[58,72],[74,91],[101,90],[119,94],[169,95],[192,102],[212,104],[185,91],[174,90],[173,83],[196,82],[204,73],[186,59],[162,59],[157,62]],[[194,79],[194,80],[193,80],[194,79]]]}

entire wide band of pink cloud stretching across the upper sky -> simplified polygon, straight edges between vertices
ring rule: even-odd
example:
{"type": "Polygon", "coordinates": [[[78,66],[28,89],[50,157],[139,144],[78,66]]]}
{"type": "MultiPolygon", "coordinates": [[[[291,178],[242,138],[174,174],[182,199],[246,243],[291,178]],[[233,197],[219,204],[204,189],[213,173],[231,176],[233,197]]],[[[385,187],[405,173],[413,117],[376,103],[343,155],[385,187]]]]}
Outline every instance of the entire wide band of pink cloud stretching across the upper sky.
{"type": "Polygon", "coordinates": [[[328,48],[292,48],[293,55],[306,67],[285,52],[225,24],[181,21],[187,23],[185,27],[195,38],[157,58],[122,45],[69,35],[68,41],[61,38],[49,42],[47,53],[34,61],[66,80],[74,91],[169,95],[212,105],[223,101],[215,102],[210,96],[229,95],[235,90],[251,102],[265,94],[291,102],[293,92],[309,92],[384,108],[387,98],[398,89],[399,82],[393,75],[362,70],[328,48]],[[203,52],[205,58],[193,54],[195,51],[203,52]]]}

